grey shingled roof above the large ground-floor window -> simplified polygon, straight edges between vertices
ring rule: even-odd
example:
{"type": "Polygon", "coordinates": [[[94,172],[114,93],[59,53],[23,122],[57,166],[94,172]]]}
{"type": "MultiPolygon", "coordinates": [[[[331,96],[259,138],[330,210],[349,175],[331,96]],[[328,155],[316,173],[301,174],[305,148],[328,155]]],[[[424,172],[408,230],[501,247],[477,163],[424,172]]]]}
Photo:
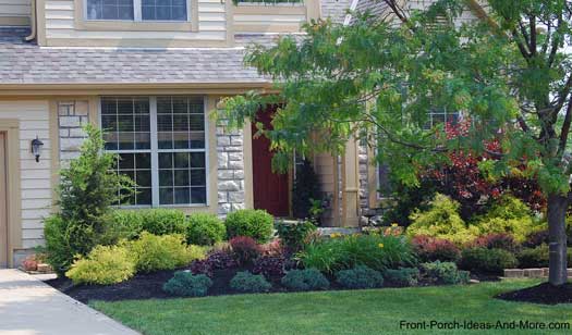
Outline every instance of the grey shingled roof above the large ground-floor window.
{"type": "Polygon", "coordinates": [[[244,48],[49,48],[0,28],[0,87],[16,84],[269,83],[243,63],[244,48]]]}

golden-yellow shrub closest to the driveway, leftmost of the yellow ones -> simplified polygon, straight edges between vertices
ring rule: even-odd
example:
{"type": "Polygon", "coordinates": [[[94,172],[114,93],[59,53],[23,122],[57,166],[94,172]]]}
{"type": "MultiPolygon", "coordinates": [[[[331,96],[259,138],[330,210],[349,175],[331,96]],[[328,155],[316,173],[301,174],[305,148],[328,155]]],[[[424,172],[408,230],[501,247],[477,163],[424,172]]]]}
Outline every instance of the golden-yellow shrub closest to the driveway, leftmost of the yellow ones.
{"type": "Polygon", "coordinates": [[[120,246],[97,246],[65,272],[75,285],[111,285],[126,281],[134,274],[135,263],[127,249],[120,246]]]}

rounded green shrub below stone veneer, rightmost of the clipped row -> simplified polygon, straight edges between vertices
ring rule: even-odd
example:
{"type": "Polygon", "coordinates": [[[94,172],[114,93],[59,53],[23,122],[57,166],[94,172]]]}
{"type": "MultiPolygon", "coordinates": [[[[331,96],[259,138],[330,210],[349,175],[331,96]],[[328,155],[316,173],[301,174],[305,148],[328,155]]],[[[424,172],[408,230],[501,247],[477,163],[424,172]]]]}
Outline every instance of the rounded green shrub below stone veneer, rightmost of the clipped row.
{"type": "Polygon", "coordinates": [[[224,221],[227,236],[248,236],[258,243],[266,243],[272,236],[273,218],[264,210],[239,210],[230,213],[224,221]]]}

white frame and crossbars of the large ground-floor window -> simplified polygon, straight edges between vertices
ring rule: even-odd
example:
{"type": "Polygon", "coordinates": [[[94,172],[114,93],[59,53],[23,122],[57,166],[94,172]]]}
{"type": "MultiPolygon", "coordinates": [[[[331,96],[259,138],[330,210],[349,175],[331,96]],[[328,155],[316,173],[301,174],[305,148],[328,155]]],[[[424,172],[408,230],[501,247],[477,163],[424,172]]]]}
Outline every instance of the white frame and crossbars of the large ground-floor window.
{"type": "MultiPolygon", "coordinates": [[[[139,96],[139,95],[129,95],[124,96],[125,98],[148,98],[149,99],[149,125],[150,125],[150,150],[149,149],[133,149],[133,150],[106,150],[106,152],[111,153],[139,153],[139,152],[150,152],[151,156],[151,208],[200,208],[210,206],[210,162],[209,162],[209,121],[207,112],[207,97],[202,96],[203,98],[203,113],[205,122],[205,148],[203,149],[159,149],[159,142],[157,139],[157,98],[158,97],[178,97],[179,95],[167,95],[167,96],[139,96]],[[173,204],[160,204],[159,203],[159,153],[161,152],[204,152],[205,153],[205,203],[173,203],[173,204]]],[[[112,97],[121,97],[114,95],[112,97]]],[[[190,97],[188,95],[183,95],[179,97],[190,97]]],[[[98,125],[102,129],[102,120],[101,120],[101,99],[105,97],[99,97],[97,99],[97,110],[98,110],[98,125]]],[[[120,208],[126,209],[136,209],[136,208],[149,208],[145,204],[133,204],[133,206],[120,206],[120,208]]]]}

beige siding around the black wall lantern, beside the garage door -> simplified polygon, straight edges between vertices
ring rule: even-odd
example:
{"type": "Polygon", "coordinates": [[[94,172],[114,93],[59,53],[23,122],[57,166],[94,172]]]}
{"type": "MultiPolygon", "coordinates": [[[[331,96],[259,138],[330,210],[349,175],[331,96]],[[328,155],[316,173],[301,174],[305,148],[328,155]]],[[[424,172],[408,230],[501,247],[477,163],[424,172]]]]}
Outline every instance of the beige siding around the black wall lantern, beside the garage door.
{"type": "Polygon", "coordinates": [[[52,204],[48,101],[0,101],[1,119],[20,120],[20,167],[23,248],[42,243],[42,218],[52,204]],[[40,162],[31,152],[36,135],[44,142],[40,162]]]}

